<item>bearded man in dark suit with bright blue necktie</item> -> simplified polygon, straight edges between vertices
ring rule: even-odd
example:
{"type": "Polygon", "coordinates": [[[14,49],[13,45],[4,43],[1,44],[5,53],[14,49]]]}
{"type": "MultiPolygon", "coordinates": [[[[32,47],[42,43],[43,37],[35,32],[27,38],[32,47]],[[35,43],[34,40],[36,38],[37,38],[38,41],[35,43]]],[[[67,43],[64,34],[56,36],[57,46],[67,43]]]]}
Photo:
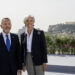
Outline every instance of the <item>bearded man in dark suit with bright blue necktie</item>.
{"type": "Polygon", "coordinates": [[[10,33],[11,21],[3,18],[0,34],[0,75],[21,75],[22,61],[19,39],[10,33]]]}

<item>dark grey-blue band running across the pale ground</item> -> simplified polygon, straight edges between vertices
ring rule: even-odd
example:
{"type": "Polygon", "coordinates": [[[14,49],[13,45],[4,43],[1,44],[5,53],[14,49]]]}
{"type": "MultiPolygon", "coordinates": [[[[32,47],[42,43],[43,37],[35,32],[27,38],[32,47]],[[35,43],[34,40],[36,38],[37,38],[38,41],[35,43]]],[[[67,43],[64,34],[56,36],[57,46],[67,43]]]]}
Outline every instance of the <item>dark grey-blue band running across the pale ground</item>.
{"type": "Polygon", "coordinates": [[[75,74],[75,67],[73,67],[73,66],[47,65],[47,72],[75,74]]]}

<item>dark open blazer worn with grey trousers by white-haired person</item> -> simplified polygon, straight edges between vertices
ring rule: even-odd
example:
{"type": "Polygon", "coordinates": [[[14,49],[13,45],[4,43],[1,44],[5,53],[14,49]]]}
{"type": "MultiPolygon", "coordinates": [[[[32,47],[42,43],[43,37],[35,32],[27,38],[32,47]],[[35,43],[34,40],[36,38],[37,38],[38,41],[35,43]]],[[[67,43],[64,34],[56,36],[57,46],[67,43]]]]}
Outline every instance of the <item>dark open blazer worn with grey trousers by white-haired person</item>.
{"type": "MultiPolygon", "coordinates": [[[[27,53],[27,36],[25,33],[21,35],[22,62],[25,63],[27,53]]],[[[42,65],[47,63],[47,48],[44,32],[34,29],[32,38],[31,55],[34,65],[42,65]]]]}

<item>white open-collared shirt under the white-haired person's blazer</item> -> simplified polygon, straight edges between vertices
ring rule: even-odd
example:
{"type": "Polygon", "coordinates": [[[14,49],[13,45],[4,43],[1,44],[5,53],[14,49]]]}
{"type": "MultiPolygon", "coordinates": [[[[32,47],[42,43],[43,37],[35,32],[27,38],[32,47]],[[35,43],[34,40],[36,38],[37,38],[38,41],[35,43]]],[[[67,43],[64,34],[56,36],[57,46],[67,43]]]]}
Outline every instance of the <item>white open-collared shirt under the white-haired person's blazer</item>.
{"type": "Polygon", "coordinates": [[[27,34],[27,52],[31,52],[33,30],[30,35],[28,34],[27,29],[26,29],[25,33],[27,34]]]}

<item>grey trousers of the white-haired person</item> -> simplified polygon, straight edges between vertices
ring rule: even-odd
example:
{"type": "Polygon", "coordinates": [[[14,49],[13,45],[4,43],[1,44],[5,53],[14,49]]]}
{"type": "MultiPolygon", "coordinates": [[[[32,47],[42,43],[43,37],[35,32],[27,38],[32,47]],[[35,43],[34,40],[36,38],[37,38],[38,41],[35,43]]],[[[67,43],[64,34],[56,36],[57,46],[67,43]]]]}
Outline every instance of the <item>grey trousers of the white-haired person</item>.
{"type": "Polygon", "coordinates": [[[44,75],[42,65],[39,65],[39,66],[33,65],[31,53],[27,53],[27,56],[26,56],[26,69],[27,69],[28,75],[44,75]]]}

